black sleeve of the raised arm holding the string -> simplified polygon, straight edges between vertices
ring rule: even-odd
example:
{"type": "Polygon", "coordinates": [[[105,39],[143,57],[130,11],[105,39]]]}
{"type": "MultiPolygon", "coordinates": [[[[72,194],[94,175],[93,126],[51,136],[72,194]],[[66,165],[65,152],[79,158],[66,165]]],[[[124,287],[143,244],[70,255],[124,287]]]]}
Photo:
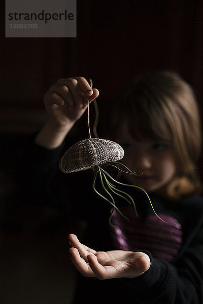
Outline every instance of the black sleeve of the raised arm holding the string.
{"type": "Polygon", "coordinates": [[[47,149],[35,144],[35,137],[36,134],[29,138],[18,158],[16,180],[22,203],[49,205],[64,215],[86,219],[86,188],[90,187],[92,176],[85,171],[62,173],[59,161],[65,144],[47,149]]]}

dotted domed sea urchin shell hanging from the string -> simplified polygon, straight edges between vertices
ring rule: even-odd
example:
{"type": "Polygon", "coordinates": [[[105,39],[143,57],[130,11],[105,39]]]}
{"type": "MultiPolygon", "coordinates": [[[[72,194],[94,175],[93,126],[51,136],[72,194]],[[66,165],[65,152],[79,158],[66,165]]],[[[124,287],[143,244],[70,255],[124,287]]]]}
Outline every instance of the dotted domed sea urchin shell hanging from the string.
{"type": "Polygon", "coordinates": [[[77,172],[119,161],[123,156],[123,148],[118,143],[108,139],[88,138],[68,149],[61,158],[59,167],[64,173],[77,172]]]}

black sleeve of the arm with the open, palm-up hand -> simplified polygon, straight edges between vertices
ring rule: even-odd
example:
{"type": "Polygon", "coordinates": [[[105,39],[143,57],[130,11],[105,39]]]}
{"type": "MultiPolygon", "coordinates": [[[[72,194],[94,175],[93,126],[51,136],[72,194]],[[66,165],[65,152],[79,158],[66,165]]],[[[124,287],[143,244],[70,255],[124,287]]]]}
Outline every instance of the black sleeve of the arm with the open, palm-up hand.
{"type": "Polygon", "coordinates": [[[203,303],[203,225],[175,263],[146,253],[151,260],[149,270],[141,277],[123,279],[136,303],[203,303]]]}

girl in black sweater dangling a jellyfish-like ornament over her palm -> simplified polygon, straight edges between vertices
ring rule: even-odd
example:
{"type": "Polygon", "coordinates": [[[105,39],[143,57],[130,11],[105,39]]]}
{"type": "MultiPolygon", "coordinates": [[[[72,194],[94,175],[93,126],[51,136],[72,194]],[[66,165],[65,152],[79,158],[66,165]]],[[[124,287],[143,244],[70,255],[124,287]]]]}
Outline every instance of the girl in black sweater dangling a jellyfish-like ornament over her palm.
{"type": "Polygon", "coordinates": [[[175,72],[158,71],[122,88],[111,104],[108,137],[123,146],[122,162],[143,173],[123,173],[121,181],[144,188],[162,219],[145,194],[130,188],[139,217],[118,202],[129,221],[115,211],[114,227],[108,224],[110,207],[99,203],[89,176],[58,170],[66,135],[88,98],[97,96],[84,78],[59,80],[45,93],[49,118],[32,146],[52,199],[60,193],[59,202],[76,206],[77,216],[89,221],[86,245],[69,236],[71,259],[81,273],[74,303],[203,303],[203,200],[195,168],[201,131],[191,87],[175,72]]]}

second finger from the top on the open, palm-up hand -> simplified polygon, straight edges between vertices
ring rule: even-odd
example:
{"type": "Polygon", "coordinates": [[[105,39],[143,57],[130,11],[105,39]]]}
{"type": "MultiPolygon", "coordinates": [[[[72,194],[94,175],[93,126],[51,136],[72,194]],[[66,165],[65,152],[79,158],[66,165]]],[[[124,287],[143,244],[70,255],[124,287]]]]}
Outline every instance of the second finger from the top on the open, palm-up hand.
{"type": "Polygon", "coordinates": [[[71,255],[71,260],[77,270],[85,277],[95,277],[95,274],[93,273],[91,267],[89,266],[89,263],[86,262],[79,254],[79,251],[77,248],[70,248],[69,250],[71,255]]]}

